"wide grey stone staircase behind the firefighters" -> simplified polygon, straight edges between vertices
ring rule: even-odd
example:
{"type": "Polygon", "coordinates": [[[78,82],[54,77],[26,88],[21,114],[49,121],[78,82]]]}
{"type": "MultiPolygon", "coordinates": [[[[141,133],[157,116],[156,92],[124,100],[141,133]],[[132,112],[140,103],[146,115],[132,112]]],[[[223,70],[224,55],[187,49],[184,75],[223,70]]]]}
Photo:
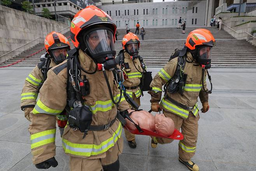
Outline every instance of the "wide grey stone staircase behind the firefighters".
{"type": "MultiPolygon", "coordinates": [[[[195,28],[188,28],[188,32],[194,29],[195,28]]],[[[207,29],[209,29],[216,38],[216,46],[212,49],[213,68],[256,68],[256,47],[245,40],[234,39],[223,30],[209,27],[207,27],[207,29]]],[[[125,34],[125,30],[118,31],[119,40],[116,41],[115,44],[117,54],[122,48],[120,38],[125,34]]],[[[141,40],[140,43],[140,56],[144,58],[146,65],[148,67],[163,67],[167,63],[170,54],[172,54],[176,48],[181,49],[184,46],[187,34],[181,34],[181,32],[181,29],[176,28],[147,29],[147,37],[145,36],[145,40],[141,40]],[[163,37],[163,35],[165,35],[165,37],[163,37]]],[[[39,51],[43,47],[44,44],[38,44],[15,58],[0,64],[0,66],[14,63],[39,51]]],[[[73,45],[72,48],[74,48],[73,45]]],[[[39,63],[40,56],[44,52],[45,50],[13,66],[35,66],[39,63]]]]}

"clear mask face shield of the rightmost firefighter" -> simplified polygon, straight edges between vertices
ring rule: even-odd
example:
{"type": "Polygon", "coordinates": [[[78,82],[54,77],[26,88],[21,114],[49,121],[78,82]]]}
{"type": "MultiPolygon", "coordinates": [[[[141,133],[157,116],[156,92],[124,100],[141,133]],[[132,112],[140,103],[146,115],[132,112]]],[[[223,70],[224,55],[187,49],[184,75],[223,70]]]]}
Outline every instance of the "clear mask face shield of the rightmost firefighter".
{"type": "Polygon", "coordinates": [[[212,46],[199,47],[197,55],[198,55],[197,62],[200,65],[210,64],[211,55],[212,55],[212,46]]]}

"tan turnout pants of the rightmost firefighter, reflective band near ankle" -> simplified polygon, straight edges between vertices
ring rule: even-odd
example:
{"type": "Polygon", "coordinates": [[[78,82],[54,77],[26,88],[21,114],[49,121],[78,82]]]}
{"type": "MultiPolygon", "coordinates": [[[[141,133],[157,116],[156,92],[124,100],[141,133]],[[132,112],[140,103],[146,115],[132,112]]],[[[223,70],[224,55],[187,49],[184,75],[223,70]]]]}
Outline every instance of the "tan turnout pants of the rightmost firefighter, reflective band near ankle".
{"type": "MultiPolygon", "coordinates": [[[[188,118],[182,119],[178,115],[168,111],[163,111],[163,113],[165,117],[169,117],[174,121],[175,129],[181,129],[184,139],[179,141],[179,157],[182,161],[189,161],[195,155],[196,151],[199,114],[195,116],[192,112],[189,112],[188,118]]],[[[166,138],[156,138],[156,140],[160,144],[167,144],[173,141],[172,139],[166,138]]]]}

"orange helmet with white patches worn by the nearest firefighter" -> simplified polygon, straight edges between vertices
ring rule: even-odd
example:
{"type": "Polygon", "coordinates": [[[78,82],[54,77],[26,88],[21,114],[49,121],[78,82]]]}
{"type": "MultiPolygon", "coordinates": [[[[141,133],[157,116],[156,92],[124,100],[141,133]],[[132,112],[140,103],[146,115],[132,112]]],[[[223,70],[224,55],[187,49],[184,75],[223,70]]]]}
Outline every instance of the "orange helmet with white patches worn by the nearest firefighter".
{"type": "MultiPolygon", "coordinates": [[[[78,35],[82,30],[93,25],[105,26],[113,31],[113,38],[116,33],[116,24],[111,17],[103,10],[94,5],[89,5],[85,9],[80,10],[75,14],[71,21],[70,37],[76,48],[79,48],[81,42],[78,40],[78,35]]],[[[115,38],[114,38],[115,40],[115,38]]]]}

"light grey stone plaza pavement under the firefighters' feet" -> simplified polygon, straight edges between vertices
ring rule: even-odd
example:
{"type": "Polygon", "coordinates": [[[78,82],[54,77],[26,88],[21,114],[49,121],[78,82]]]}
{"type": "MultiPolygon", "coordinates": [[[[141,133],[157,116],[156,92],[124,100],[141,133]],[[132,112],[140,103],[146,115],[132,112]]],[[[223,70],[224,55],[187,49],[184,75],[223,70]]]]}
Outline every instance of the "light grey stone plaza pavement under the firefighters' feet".
{"type": "MultiPolygon", "coordinates": [[[[33,67],[0,68],[0,171],[36,171],[30,152],[29,122],[20,110],[20,93],[33,67]]],[[[155,75],[160,68],[148,68],[155,75]]],[[[200,113],[193,161],[200,171],[256,170],[256,69],[212,68],[210,111],[200,113]]],[[[208,86],[209,87],[209,86],[208,86]]],[[[149,110],[150,96],[141,103],[149,110]]],[[[200,102],[198,103],[201,108],[200,102]]],[[[123,131],[124,132],[124,131],[123,131]]],[[[120,171],[188,171],[178,161],[178,141],[152,149],[149,136],[136,136],[137,148],[124,142],[120,171]]],[[[68,171],[68,156],[56,133],[56,160],[49,171],[68,171]]]]}

